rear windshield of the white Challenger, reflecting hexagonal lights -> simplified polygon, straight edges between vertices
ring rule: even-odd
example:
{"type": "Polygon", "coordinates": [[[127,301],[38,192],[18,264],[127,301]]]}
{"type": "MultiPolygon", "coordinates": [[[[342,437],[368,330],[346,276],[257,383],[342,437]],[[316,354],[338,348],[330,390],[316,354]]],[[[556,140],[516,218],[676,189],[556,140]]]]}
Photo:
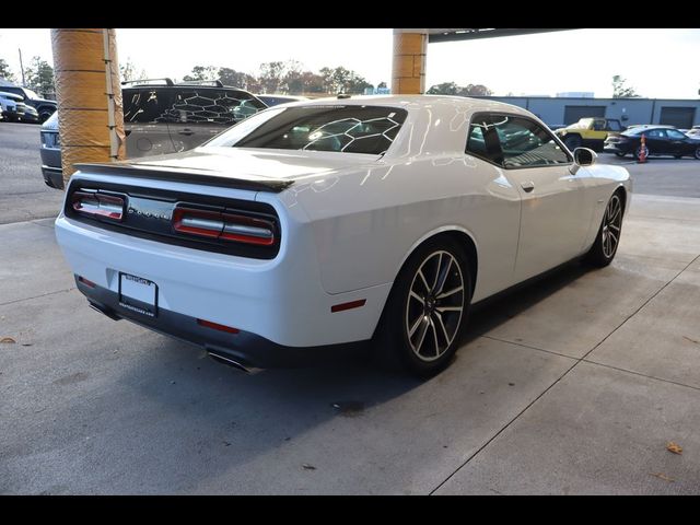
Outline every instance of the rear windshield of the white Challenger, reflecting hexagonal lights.
{"type": "Polygon", "coordinates": [[[207,145],[384,153],[406,120],[384,106],[275,107],[234,126],[207,145]]]}

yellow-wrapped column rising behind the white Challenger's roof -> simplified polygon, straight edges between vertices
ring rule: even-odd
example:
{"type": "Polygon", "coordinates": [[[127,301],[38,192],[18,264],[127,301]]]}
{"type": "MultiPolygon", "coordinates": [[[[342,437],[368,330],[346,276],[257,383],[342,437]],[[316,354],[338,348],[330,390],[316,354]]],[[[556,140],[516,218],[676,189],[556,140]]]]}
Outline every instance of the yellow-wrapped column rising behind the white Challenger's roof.
{"type": "Polygon", "coordinates": [[[428,30],[394,30],[392,93],[418,95],[425,92],[428,30]]]}

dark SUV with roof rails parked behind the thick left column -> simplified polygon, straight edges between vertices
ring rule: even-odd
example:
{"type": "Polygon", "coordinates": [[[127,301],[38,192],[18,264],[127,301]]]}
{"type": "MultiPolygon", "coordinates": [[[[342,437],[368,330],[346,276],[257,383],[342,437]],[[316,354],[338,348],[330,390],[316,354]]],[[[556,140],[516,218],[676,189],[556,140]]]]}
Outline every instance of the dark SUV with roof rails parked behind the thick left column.
{"type": "MultiPolygon", "coordinates": [[[[247,91],[220,81],[176,84],[171,79],[155,79],[121,85],[127,159],[197,148],[267,107],[247,91]]],[[[42,127],[40,151],[44,182],[62,189],[57,118],[42,127]]]]}

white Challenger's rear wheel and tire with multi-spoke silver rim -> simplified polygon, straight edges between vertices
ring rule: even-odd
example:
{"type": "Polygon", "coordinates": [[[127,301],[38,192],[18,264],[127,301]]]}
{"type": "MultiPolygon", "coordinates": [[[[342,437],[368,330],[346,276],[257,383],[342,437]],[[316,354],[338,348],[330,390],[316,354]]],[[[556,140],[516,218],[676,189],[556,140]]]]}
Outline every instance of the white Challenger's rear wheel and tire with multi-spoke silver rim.
{"type": "Polygon", "coordinates": [[[445,237],[420,246],[394,282],[380,320],[375,343],[384,363],[421,378],[443,371],[462,341],[470,300],[464,250],[445,237]]]}

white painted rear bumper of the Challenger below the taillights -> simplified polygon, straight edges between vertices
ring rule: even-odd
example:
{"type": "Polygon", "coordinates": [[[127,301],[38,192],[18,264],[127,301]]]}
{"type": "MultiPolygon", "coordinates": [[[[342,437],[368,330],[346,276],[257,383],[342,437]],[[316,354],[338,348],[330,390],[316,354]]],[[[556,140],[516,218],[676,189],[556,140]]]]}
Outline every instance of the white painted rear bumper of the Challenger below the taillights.
{"type": "MultiPolygon", "coordinates": [[[[199,318],[237,328],[244,336],[236,348],[250,339],[245,334],[303,352],[308,347],[370,339],[392,283],[328,294],[320,283],[311,229],[291,230],[288,223],[285,238],[294,237],[293,249],[283,244],[278,257],[264,260],[139,238],[62,213],[56,220],[58,244],[73,273],[113,294],[119,290],[119,272],[151,280],[158,285],[159,311],[185,316],[189,324],[199,318]],[[358,300],[365,300],[364,305],[331,310],[358,300]]],[[[115,310],[114,301],[105,305],[115,310]]],[[[119,316],[131,318],[124,313],[119,316]]],[[[148,319],[141,324],[150,326],[148,319]]],[[[154,328],[173,334],[167,326],[154,328]]],[[[257,348],[255,341],[250,343],[257,348]]]]}

